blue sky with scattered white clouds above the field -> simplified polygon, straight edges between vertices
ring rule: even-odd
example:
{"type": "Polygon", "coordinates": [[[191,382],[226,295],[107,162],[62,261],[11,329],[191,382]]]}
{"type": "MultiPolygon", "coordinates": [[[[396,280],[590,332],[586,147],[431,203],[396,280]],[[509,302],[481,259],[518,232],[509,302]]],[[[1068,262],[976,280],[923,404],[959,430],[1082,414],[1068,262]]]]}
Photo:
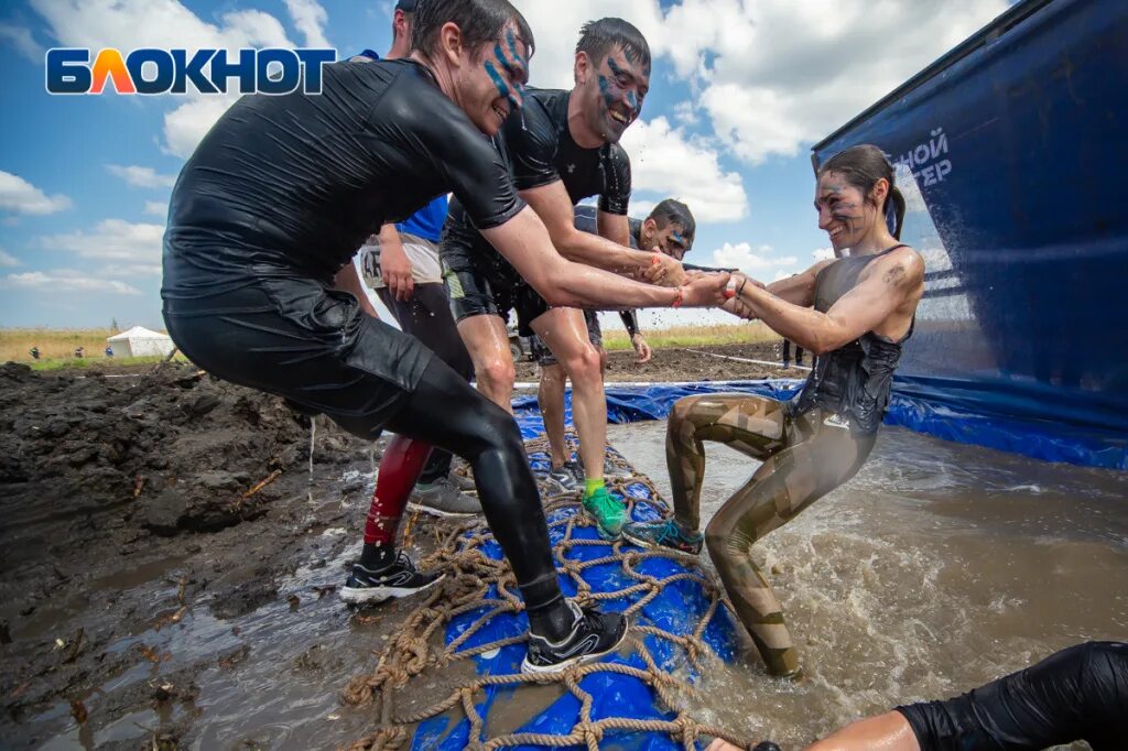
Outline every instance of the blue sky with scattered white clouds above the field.
{"type": "MultiPolygon", "coordinates": [[[[0,327],[164,328],[168,198],[223,96],[51,96],[54,46],[334,47],[391,41],[391,0],[18,0],[0,10],[0,327]]],[[[654,56],[623,138],[631,213],[685,201],[687,260],[773,281],[829,253],[810,148],[1006,9],[1006,0],[514,0],[531,83],[570,88],[580,26],[619,16],[654,56]]],[[[385,318],[390,318],[385,316],[385,318]]],[[[608,327],[618,317],[601,316],[608,327]]],[[[646,311],[643,328],[734,321],[646,311]]]]}

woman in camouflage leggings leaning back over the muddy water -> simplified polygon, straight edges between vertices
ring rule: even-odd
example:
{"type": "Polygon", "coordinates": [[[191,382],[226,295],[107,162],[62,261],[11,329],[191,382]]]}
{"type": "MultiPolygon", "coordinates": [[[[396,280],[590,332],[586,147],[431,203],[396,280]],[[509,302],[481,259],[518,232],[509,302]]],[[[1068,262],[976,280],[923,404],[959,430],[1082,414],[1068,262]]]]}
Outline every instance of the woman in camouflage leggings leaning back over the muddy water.
{"type": "Polygon", "coordinates": [[[737,615],[773,675],[799,672],[799,654],[779,602],[749,547],[857,472],[889,404],[901,347],[924,294],[924,260],[898,241],[905,202],[880,149],[846,149],[819,169],[819,227],[849,257],[823,260],[764,288],[733,275],[738,294],[725,309],[759,318],[818,355],[790,403],[747,394],[679,400],[667,426],[666,456],[675,516],[632,523],[626,539],[689,554],[708,547],[737,615]],[[896,207],[896,229],[885,224],[896,207]],[[705,530],[700,492],[703,441],[720,441],[764,462],[705,530]]]}

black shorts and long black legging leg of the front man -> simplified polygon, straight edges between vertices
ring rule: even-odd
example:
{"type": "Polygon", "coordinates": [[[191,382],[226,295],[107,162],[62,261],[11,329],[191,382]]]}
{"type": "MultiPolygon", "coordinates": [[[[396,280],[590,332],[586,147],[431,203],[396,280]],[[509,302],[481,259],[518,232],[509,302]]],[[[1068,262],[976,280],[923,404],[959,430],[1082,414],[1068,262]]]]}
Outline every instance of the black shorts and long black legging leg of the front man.
{"type": "Polygon", "coordinates": [[[166,299],[165,323],[184,354],[220,378],[285,397],[365,440],[387,427],[465,458],[527,609],[561,600],[517,423],[418,339],[362,313],[351,294],[293,277],[166,299]]]}

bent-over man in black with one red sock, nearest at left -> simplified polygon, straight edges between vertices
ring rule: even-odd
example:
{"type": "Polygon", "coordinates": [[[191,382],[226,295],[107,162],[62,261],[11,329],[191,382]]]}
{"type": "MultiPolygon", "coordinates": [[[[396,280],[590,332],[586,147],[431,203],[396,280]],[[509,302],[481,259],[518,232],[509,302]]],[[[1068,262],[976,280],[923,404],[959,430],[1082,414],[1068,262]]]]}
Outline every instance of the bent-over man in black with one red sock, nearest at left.
{"type": "Polygon", "coordinates": [[[396,554],[396,528],[431,445],[466,458],[525,599],[522,670],[554,670],[614,650],[626,621],[562,595],[517,425],[418,339],[365,315],[352,257],[382,224],[453,192],[556,304],[715,304],[729,280],[666,290],[554,251],[482,135],[521,106],[528,80],[532,33],[506,0],[421,3],[412,43],[407,59],[325,67],[320,95],[245,96],[220,117],[173,191],[165,321],[180,351],[220,378],[365,439],[399,434],[346,600],[404,597],[441,577],[396,554]]]}

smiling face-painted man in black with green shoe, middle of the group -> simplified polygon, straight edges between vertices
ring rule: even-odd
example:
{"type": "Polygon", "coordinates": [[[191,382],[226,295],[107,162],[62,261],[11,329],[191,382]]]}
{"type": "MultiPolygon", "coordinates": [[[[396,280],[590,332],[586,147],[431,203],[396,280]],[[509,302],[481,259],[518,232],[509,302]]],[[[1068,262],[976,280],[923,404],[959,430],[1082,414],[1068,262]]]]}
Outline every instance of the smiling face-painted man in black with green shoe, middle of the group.
{"type": "MultiPolygon", "coordinates": [[[[514,185],[565,258],[664,284],[685,283],[672,257],[629,247],[631,162],[618,141],[638,117],[650,87],[646,39],[618,18],[590,21],[580,33],[573,73],[571,91],[526,90],[526,106],[495,139],[514,185]],[[593,195],[600,196],[598,235],[580,231],[573,222],[575,204],[593,195]]],[[[511,307],[519,332],[540,336],[572,379],[584,507],[602,537],[618,537],[626,514],[603,485],[607,400],[583,313],[553,307],[530,289],[490,250],[458,201],[451,203],[441,254],[455,319],[483,394],[510,408],[514,371],[505,317],[511,307]]]]}

